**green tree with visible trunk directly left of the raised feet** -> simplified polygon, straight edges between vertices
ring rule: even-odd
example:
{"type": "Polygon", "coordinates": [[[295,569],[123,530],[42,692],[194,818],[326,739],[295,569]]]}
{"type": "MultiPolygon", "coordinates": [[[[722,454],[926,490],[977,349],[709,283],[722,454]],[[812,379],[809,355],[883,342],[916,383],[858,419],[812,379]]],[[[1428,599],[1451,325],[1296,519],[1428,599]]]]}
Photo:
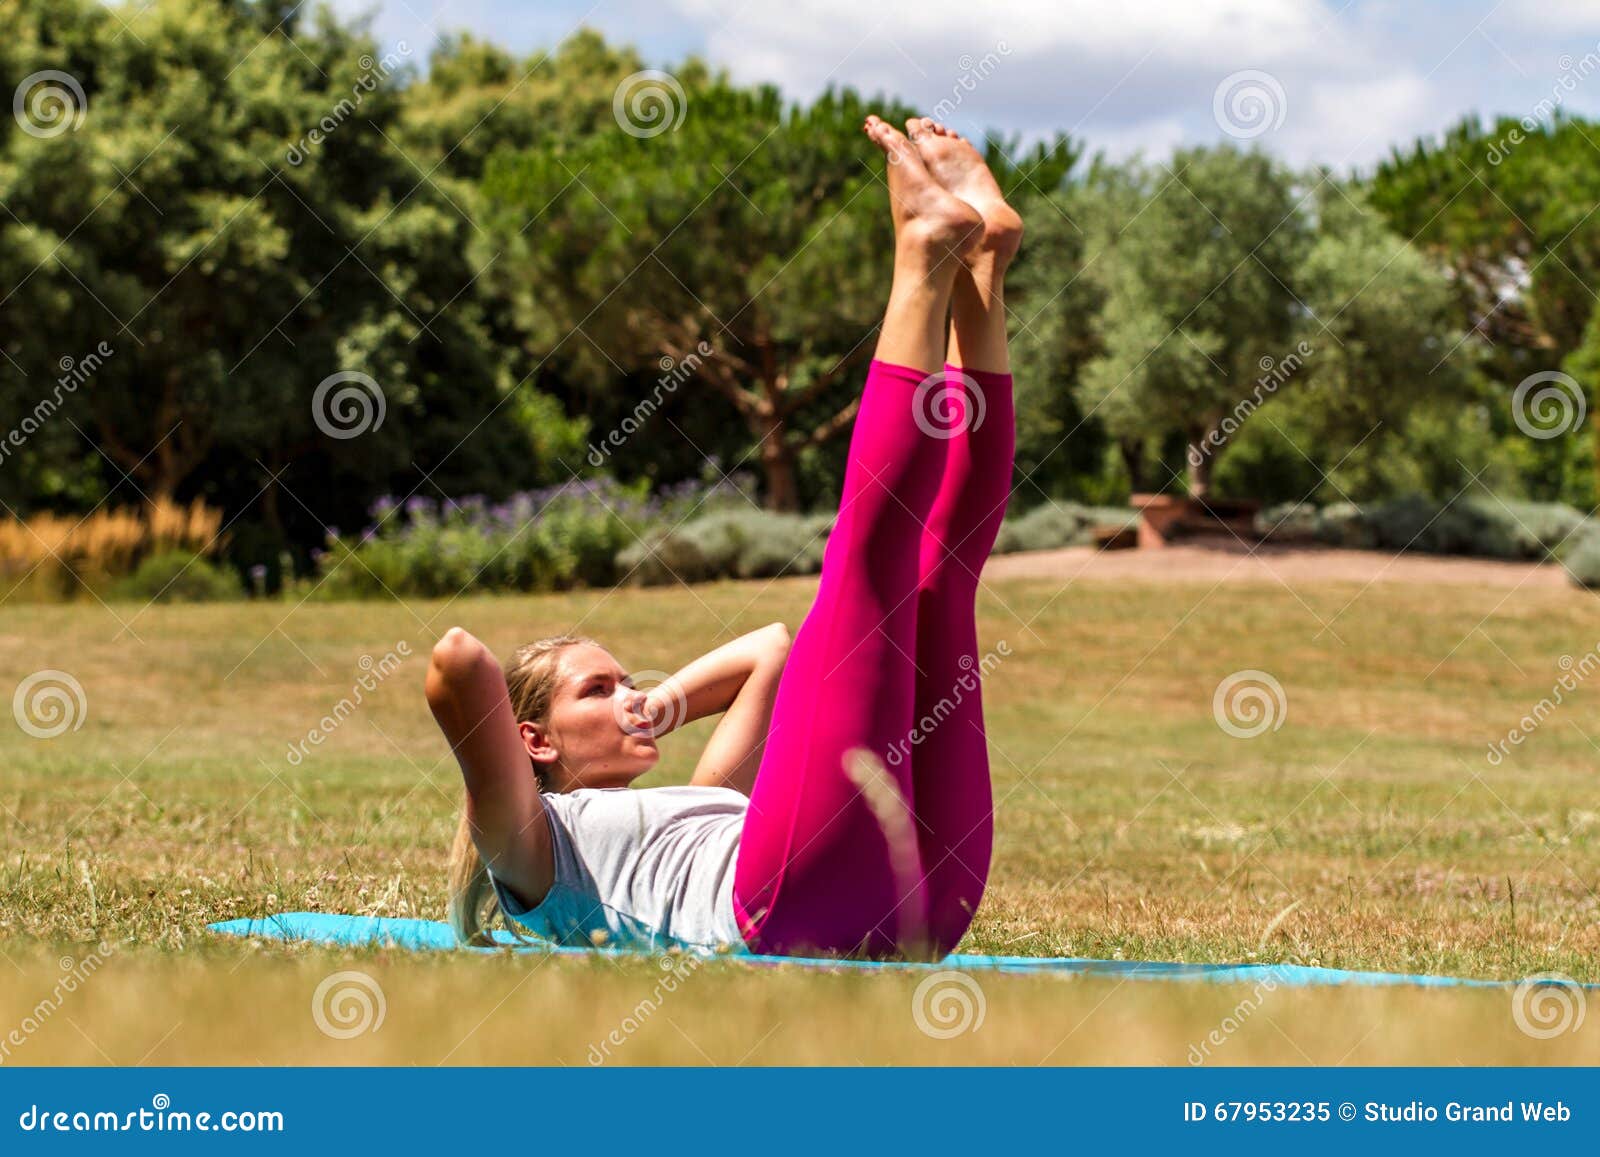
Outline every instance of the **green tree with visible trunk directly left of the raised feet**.
{"type": "Polygon", "coordinates": [[[595,390],[709,342],[693,389],[747,432],[766,504],[798,509],[802,454],[854,418],[891,269],[861,125],[912,110],[848,90],[787,106],[694,61],[622,80],[610,126],[491,158],[498,277],[536,352],[595,390]]]}

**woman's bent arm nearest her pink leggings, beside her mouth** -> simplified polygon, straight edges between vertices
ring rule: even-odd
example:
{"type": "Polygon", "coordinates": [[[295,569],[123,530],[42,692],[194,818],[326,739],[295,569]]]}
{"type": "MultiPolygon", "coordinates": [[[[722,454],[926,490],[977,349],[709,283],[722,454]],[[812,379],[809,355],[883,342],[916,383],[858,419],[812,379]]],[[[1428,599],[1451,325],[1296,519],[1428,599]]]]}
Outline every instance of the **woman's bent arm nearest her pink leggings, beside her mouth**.
{"type": "Polygon", "coordinates": [[[773,623],[702,655],[646,693],[656,735],[723,712],[690,783],[750,794],[787,658],[789,627],[773,623]]]}

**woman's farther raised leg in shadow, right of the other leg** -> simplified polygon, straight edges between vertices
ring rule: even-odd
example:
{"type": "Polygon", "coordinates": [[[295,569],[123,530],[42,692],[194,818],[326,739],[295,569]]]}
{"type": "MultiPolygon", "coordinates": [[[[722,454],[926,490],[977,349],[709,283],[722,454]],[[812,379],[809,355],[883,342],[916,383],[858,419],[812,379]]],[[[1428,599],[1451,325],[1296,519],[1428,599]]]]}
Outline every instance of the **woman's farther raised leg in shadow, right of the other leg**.
{"type": "Polygon", "coordinates": [[[978,911],[994,847],[979,682],[992,663],[978,651],[976,600],[1011,494],[1016,419],[1005,272],[1022,221],[970,142],[928,118],[909,122],[907,131],[933,176],[984,218],[984,240],[952,290],[942,413],[949,458],[918,562],[912,791],[928,933],[942,954],[978,911]]]}

